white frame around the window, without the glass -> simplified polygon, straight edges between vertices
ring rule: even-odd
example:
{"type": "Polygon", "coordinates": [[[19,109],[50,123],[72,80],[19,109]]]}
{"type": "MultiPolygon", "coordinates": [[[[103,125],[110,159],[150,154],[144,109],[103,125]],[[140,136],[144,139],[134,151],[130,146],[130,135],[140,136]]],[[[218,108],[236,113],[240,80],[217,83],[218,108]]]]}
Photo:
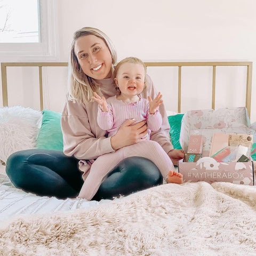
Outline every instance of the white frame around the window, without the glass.
{"type": "Polygon", "coordinates": [[[39,43],[0,43],[0,61],[57,60],[57,0],[39,0],[39,43]]]}

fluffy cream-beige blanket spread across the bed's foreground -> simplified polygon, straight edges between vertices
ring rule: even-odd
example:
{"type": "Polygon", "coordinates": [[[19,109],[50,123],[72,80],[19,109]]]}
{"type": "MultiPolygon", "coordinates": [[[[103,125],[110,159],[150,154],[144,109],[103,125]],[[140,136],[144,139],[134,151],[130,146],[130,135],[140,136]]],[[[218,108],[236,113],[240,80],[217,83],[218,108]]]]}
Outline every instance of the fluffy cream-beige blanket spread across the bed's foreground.
{"type": "Polygon", "coordinates": [[[167,184],[70,213],[19,217],[0,255],[255,255],[256,188],[167,184]]]}

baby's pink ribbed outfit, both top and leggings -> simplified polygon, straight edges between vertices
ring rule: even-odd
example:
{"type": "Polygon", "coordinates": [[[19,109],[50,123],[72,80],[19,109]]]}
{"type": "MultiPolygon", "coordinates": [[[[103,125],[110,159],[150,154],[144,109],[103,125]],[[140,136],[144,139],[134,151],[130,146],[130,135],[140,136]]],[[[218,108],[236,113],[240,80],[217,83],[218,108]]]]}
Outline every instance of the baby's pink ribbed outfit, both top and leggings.
{"type": "Polygon", "coordinates": [[[163,148],[156,141],[150,140],[151,131],[161,129],[162,116],[159,111],[150,114],[148,100],[141,97],[136,103],[117,100],[116,96],[108,98],[107,102],[109,110],[103,112],[98,108],[97,122],[102,130],[108,131],[108,137],[114,136],[127,119],[134,118],[136,122],[147,121],[147,138],[134,145],[120,148],[113,153],[101,155],[93,162],[90,173],[78,195],[78,197],[87,200],[92,199],[106,175],[124,158],[140,156],[150,159],[156,164],[165,180],[169,171],[174,171],[172,161],[163,148]]]}

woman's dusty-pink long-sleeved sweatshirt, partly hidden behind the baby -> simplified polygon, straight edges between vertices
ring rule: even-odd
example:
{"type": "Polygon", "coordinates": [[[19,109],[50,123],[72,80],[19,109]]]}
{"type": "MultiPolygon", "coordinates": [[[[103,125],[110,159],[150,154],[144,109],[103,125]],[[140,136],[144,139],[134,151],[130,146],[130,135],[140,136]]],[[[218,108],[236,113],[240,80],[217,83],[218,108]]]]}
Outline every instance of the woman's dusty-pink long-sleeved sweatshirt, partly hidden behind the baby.
{"type": "MultiPolygon", "coordinates": [[[[101,93],[106,99],[116,95],[115,82],[112,78],[97,82],[102,84],[101,93]]],[[[151,78],[147,75],[147,89],[141,93],[141,96],[145,99],[148,95],[155,98],[157,93],[151,78]]],[[[163,119],[162,129],[151,132],[150,140],[157,141],[164,151],[169,153],[173,146],[169,139],[170,125],[163,104],[159,106],[159,111],[163,119]]],[[[106,131],[102,130],[97,123],[97,113],[97,102],[78,103],[67,99],[61,115],[63,152],[67,156],[74,156],[81,160],[79,169],[84,172],[83,179],[89,173],[90,162],[92,162],[86,161],[86,159],[95,159],[114,151],[111,147],[110,137],[105,137],[106,131]]]]}

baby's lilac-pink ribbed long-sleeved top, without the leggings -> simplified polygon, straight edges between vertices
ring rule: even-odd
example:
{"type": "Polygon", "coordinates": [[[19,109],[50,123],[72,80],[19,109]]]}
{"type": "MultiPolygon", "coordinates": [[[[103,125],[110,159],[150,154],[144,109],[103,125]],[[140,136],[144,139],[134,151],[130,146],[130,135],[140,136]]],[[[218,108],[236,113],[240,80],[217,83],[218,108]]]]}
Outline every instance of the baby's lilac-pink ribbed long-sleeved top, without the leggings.
{"type": "Polygon", "coordinates": [[[135,119],[135,123],[146,120],[148,128],[148,140],[150,139],[151,131],[158,131],[162,125],[162,116],[157,110],[154,115],[149,113],[148,100],[141,98],[136,103],[126,103],[122,100],[117,100],[116,96],[109,97],[108,111],[103,112],[98,108],[98,124],[101,129],[108,131],[108,137],[114,136],[120,126],[127,119],[135,119]]]}

